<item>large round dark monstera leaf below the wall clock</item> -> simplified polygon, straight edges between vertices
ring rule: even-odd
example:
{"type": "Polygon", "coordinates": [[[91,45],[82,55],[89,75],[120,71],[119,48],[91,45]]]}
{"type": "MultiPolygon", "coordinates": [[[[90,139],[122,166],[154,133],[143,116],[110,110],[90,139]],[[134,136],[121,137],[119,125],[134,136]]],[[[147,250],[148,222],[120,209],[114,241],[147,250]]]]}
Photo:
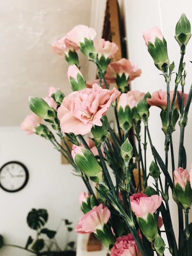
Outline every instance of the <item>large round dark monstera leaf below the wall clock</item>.
{"type": "Polygon", "coordinates": [[[39,229],[45,225],[48,220],[48,213],[45,209],[32,209],[27,216],[27,224],[29,228],[39,229]]]}

